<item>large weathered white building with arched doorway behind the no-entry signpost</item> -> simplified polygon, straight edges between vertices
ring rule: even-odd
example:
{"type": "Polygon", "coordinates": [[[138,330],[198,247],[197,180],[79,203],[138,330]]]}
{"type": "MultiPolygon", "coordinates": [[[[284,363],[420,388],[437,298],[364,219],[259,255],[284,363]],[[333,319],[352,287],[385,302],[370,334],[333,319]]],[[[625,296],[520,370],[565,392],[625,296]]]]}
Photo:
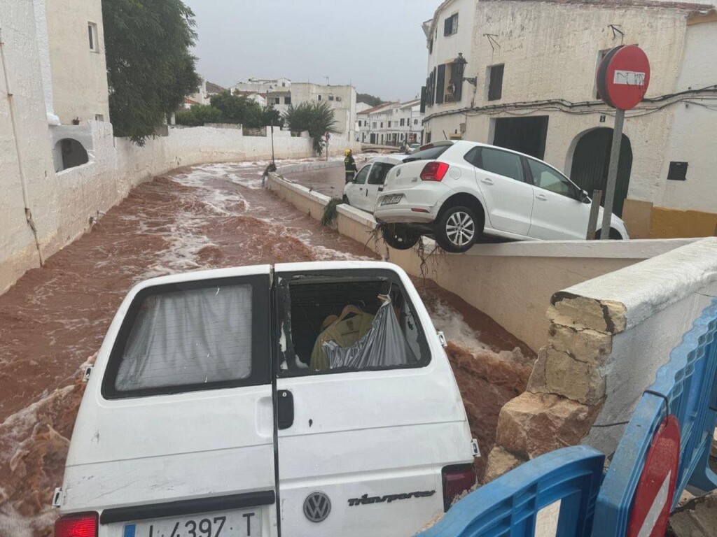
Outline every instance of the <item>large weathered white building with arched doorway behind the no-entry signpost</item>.
{"type": "Polygon", "coordinates": [[[627,113],[615,210],[635,237],[716,232],[713,6],[446,0],[423,26],[424,141],[511,147],[589,192],[604,188],[614,117],[597,96],[599,60],[619,44],[640,44],[652,74],[645,101],[627,113]]]}

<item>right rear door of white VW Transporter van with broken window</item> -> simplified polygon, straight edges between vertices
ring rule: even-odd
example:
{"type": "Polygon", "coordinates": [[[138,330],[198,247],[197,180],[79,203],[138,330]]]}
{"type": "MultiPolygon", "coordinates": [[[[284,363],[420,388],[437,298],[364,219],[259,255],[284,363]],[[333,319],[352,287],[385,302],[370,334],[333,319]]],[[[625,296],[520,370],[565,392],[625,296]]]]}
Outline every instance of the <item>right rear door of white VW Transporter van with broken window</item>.
{"type": "Polygon", "coordinates": [[[413,535],[444,511],[442,468],[473,461],[460,395],[417,292],[400,269],[367,264],[275,267],[282,537],[413,535]],[[338,353],[364,336],[372,350],[334,367],[336,356],[321,354],[326,326],[338,353]]]}

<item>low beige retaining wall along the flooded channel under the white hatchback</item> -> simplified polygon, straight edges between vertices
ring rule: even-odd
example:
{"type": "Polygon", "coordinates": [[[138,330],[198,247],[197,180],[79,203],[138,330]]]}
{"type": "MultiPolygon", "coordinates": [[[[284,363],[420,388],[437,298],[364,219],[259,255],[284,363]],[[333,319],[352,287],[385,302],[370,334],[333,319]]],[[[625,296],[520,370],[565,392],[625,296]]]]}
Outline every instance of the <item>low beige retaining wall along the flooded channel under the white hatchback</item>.
{"type": "MultiPolygon", "coordinates": [[[[272,175],[269,188],[300,211],[320,219],[330,199],[315,190],[272,175]]],[[[538,351],[548,339],[545,311],[551,296],[581,281],[622,269],[684,246],[695,239],[659,241],[536,241],[482,244],[467,253],[430,253],[423,266],[414,248],[398,251],[372,233],[371,214],[348,205],[338,206],[336,228],[343,235],[399,264],[409,274],[425,274],[448,291],[490,315],[501,326],[538,351]]]]}

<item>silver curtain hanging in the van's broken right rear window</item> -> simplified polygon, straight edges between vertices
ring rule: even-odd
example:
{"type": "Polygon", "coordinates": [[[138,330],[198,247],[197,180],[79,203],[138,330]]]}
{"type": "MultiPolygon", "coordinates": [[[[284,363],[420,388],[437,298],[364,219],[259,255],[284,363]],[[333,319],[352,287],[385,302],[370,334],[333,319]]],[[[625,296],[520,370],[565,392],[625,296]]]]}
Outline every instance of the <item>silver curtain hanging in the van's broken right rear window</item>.
{"type": "Polygon", "coordinates": [[[337,367],[370,369],[410,365],[417,362],[396,319],[391,301],[381,305],[371,329],[356,344],[351,347],[339,347],[336,342],[328,341],[322,344],[322,348],[328,357],[331,369],[337,367]]]}

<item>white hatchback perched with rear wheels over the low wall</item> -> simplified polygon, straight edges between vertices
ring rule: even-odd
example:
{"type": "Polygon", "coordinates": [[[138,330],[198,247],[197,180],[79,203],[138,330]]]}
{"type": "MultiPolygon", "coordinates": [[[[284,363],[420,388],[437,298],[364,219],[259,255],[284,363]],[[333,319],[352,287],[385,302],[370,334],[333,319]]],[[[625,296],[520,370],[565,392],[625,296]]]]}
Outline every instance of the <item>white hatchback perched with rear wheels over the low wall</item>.
{"type": "MultiPolygon", "coordinates": [[[[386,243],[408,249],[433,236],[467,251],[481,235],[518,241],[584,239],[591,200],[542,160],[478,142],[424,145],[391,169],[374,216],[386,243]]],[[[598,227],[602,223],[602,208],[598,227]]],[[[610,238],[628,238],[613,215],[610,238]]]]}

